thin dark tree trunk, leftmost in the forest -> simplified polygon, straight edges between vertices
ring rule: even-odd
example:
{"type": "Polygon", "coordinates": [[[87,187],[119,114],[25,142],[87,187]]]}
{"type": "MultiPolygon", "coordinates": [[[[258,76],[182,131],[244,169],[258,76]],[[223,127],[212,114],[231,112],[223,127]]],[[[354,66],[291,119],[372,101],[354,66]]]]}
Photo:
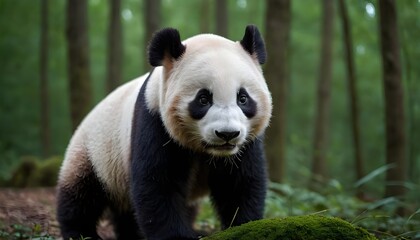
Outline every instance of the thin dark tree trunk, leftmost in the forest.
{"type": "Polygon", "coordinates": [[[40,97],[42,156],[51,154],[50,99],[48,91],[48,0],[41,0],[40,97]]]}

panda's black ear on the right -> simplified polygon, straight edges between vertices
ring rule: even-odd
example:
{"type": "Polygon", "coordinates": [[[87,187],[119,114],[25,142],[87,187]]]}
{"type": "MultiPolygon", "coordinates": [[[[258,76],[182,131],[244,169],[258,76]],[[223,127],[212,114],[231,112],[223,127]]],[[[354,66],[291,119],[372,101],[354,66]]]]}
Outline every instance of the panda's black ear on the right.
{"type": "Polygon", "coordinates": [[[264,64],[267,59],[264,40],[255,25],[248,25],[245,29],[241,45],[252,56],[255,56],[260,64],[264,64]]]}

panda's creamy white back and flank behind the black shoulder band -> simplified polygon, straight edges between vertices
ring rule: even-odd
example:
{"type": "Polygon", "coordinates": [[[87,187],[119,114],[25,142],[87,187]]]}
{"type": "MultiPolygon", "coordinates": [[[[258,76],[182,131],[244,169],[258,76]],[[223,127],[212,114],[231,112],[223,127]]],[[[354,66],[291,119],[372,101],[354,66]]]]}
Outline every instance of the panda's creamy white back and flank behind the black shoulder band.
{"type": "Polygon", "coordinates": [[[146,78],[143,75],[120,86],[86,116],[67,148],[61,179],[68,179],[66,175],[74,172],[83,174],[78,170],[80,165],[91,165],[107,192],[121,203],[128,202],[132,118],[146,78]],[[81,154],[86,162],[81,162],[81,154]]]}

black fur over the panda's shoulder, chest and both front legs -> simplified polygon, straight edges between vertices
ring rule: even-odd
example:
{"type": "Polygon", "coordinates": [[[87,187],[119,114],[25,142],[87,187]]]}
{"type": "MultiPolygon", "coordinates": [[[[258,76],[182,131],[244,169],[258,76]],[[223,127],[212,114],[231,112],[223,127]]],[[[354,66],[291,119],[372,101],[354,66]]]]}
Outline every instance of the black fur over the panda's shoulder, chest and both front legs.
{"type": "MultiPolygon", "coordinates": [[[[146,87],[147,81],[137,98],[132,130],[130,187],[137,221],[147,239],[197,239],[199,234],[192,229],[194,214],[186,202],[188,180],[193,161],[209,162],[212,157],[171,140],[159,113],[146,107],[146,87]]],[[[236,165],[213,159],[208,166],[212,200],[224,228],[263,215],[266,169],[262,142],[249,143],[239,157],[236,165]]]]}

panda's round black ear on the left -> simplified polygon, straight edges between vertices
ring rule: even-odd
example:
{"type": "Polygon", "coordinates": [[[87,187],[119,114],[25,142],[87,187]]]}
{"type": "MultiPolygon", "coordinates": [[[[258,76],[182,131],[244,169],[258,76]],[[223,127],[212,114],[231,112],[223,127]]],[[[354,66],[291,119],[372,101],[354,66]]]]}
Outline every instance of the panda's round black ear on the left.
{"type": "Polygon", "coordinates": [[[178,59],[185,52],[179,32],[173,28],[164,28],[156,32],[149,44],[149,63],[153,67],[162,66],[164,60],[178,59]]]}

